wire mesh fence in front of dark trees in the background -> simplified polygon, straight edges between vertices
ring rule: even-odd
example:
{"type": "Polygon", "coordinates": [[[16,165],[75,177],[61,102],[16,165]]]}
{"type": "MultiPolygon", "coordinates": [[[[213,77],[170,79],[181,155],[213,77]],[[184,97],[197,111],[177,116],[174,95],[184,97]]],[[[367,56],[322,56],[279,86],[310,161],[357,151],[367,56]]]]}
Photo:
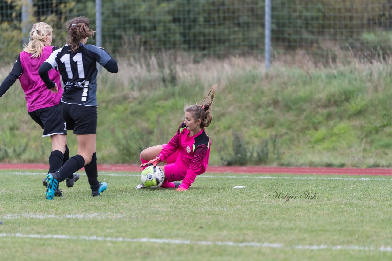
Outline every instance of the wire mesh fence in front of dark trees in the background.
{"type": "MultiPolygon", "coordinates": [[[[20,51],[28,23],[52,25],[59,46],[70,18],[84,15],[96,26],[94,0],[30,0],[22,23],[26,1],[0,0],[1,61],[20,51]]],[[[102,0],[101,17],[102,46],[114,55],[264,56],[265,0],[102,0]]],[[[374,59],[392,50],[392,0],[271,0],[270,23],[272,61],[303,53],[314,62],[374,59]]]]}

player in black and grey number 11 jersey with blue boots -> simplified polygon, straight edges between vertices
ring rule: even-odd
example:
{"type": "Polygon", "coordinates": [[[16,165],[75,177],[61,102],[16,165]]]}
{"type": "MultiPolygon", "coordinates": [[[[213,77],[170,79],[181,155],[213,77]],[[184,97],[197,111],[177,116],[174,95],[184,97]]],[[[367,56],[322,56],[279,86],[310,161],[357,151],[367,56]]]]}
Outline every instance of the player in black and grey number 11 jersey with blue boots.
{"type": "Polygon", "coordinates": [[[46,198],[53,199],[59,182],[72,178],[74,172],[84,166],[91,187],[91,195],[99,196],[107,188],[105,182],[98,182],[96,162],[97,99],[96,62],[112,73],[118,72],[116,60],[105,50],[95,45],[86,45],[93,37],[89,19],[84,16],[69,20],[67,44],[55,50],[42,64],[39,74],[51,92],[58,92],[56,83],[48,77],[48,72],[58,67],[64,83],[62,95],[62,116],[68,130],[73,130],[78,140],[78,154],[69,158],[56,173],[47,175],[46,198]]]}

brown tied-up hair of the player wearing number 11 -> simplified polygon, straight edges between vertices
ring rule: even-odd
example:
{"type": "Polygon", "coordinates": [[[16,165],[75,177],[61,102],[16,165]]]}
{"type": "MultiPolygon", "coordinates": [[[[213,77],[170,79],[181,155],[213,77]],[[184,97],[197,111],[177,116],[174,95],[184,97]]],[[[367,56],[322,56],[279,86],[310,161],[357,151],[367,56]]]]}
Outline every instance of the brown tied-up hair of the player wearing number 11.
{"type": "Polygon", "coordinates": [[[79,16],[69,20],[65,23],[65,28],[68,31],[67,42],[71,46],[71,51],[75,51],[80,46],[80,40],[94,36],[93,30],[90,29],[90,20],[85,16],[79,16]]]}

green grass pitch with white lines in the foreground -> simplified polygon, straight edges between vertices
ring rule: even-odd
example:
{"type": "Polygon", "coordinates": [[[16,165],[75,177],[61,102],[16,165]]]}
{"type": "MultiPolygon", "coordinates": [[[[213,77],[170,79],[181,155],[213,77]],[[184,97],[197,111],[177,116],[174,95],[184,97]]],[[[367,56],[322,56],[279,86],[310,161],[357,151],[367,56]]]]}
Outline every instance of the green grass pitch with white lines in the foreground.
{"type": "Polygon", "coordinates": [[[177,192],[100,172],[93,198],[80,174],[49,201],[44,172],[0,171],[1,260],[392,259],[389,176],[205,173],[177,192]]]}

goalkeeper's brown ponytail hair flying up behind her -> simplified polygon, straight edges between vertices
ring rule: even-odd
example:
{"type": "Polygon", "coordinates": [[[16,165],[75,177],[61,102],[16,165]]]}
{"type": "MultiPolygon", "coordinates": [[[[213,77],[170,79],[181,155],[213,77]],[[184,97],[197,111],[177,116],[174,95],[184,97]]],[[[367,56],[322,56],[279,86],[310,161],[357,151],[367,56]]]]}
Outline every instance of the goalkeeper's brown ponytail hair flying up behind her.
{"type": "Polygon", "coordinates": [[[207,133],[206,128],[212,121],[212,102],[214,101],[216,86],[218,85],[211,87],[207,96],[203,100],[203,105],[194,104],[185,108],[185,112],[192,113],[195,121],[201,119],[200,127],[205,131],[205,133],[207,133]]]}

